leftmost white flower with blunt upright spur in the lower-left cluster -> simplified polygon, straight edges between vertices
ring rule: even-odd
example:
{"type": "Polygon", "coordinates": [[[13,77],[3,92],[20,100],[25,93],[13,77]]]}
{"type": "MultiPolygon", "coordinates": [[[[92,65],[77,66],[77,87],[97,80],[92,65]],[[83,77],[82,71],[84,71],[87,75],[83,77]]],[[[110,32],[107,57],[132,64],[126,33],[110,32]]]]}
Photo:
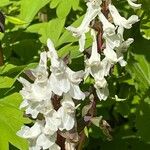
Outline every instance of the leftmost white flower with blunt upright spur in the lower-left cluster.
{"type": "Polygon", "coordinates": [[[23,84],[23,89],[20,91],[23,99],[34,102],[50,99],[52,92],[48,84],[46,52],[41,53],[38,67],[31,72],[35,77],[34,83],[31,84],[22,77],[18,79],[23,84]]]}

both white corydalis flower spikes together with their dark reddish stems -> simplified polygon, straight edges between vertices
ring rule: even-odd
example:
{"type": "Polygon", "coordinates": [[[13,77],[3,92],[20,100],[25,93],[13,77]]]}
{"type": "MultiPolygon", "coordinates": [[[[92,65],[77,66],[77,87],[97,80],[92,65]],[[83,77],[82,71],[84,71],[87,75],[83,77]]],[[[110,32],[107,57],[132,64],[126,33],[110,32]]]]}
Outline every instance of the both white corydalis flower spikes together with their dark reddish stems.
{"type": "MultiPolygon", "coordinates": [[[[140,4],[135,4],[135,0],[127,0],[134,9],[140,8],[140,4]]],[[[47,41],[48,52],[42,52],[40,62],[36,69],[31,70],[33,83],[20,77],[18,80],[23,84],[20,91],[23,102],[20,108],[25,109],[25,113],[35,120],[33,126],[23,126],[18,135],[28,139],[31,150],[75,150],[82,148],[83,131],[79,130],[79,122],[76,120],[76,109],[81,100],[88,96],[80,89],[79,84],[87,77],[94,79],[93,90],[90,93],[90,104],[83,107],[83,129],[94,122],[96,117],[96,101],[106,100],[109,96],[109,89],[106,77],[110,75],[111,68],[119,63],[125,66],[127,62],[123,58],[123,53],[127,51],[132,38],[124,40],[124,28],[130,29],[132,24],[139,19],[132,15],[128,19],[122,17],[116,7],[108,3],[103,10],[103,3],[107,1],[89,0],[87,1],[87,11],[81,25],[77,28],[69,26],[66,29],[72,32],[73,36],[79,39],[79,50],[84,51],[86,33],[90,32],[93,39],[91,45],[91,55],[85,57],[85,71],[73,71],[67,64],[58,57],[54,45],[50,39],[47,41]],[[94,24],[98,20],[99,31],[95,30],[94,24]],[[101,33],[101,39],[97,38],[101,33]],[[101,47],[99,47],[99,43],[101,47]],[[48,66],[48,61],[51,65],[48,66]],[[94,94],[96,92],[96,95],[94,94]],[[79,101],[80,100],[80,101],[79,101]],[[91,111],[89,111],[91,109],[91,111]],[[79,136],[79,131],[81,137],[79,136]]],[[[82,83],[83,84],[83,83],[82,83]]],[[[100,117],[101,119],[101,117],[100,117]]],[[[101,122],[104,126],[109,126],[106,121],[101,122]]],[[[108,132],[106,133],[108,135],[108,132]]],[[[109,136],[109,135],[108,135],[109,136]]]]}

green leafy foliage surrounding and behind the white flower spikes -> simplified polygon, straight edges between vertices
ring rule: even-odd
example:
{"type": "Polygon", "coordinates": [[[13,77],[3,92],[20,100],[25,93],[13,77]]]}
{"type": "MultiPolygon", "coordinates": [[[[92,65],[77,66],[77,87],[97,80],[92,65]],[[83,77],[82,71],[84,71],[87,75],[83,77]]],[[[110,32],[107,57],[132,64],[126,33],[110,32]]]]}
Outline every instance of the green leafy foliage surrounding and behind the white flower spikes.
{"type": "MultiPolygon", "coordinates": [[[[112,140],[104,128],[92,125],[84,129],[88,137],[84,149],[150,149],[150,1],[139,2],[142,9],[133,11],[126,0],[113,0],[122,15],[136,13],[141,19],[126,31],[126,38],[135,39],[126,55],[128,65],[114,68],[108,79],[110,96],[97,103],[97,116],[111,125],[112,140]]],[[[23,124],[30,123],[19,110],[22,99],[17,78],[36,66],[39,53],[46,50],[47,38],[61,57],[69,54],[74,70],[83,68],[77,39],[65,27],[80,24],[86,5],[83,0],[0,0],[0,9],[6,15],[5,33],[0,33],[5,61],[0,67],[0,150],[27,150],[27,142],[16,136],[23,124]]],[[[87,38],[86,47],[90,42],[87,38]]]]}

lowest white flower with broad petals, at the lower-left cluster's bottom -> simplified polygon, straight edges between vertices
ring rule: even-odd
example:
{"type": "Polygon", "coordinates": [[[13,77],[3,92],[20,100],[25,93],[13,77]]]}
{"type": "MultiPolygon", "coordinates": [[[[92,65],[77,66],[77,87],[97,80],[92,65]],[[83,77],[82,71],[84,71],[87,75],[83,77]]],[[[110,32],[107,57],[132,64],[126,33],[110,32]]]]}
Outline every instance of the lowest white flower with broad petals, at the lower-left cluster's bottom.
{"type": "Polygon", "coordinates": [[[44,121],[37,121],[32,127],[23,126],[17,135],[29,140],[30,150],[49,149],[56,146],[55,141],[57,134],[46,135],[43,132],[44,121]]]}

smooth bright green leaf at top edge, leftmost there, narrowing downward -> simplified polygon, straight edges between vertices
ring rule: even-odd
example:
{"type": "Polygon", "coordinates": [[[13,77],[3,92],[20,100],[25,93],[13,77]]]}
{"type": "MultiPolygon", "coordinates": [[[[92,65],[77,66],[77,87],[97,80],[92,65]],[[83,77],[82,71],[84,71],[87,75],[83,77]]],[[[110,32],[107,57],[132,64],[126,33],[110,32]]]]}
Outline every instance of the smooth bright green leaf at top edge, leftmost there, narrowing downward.
{"type": "Polygon", "coordinates": [[[20,19],[30,23],[38,11],[50,0],[21,0],[20,19]]]}

